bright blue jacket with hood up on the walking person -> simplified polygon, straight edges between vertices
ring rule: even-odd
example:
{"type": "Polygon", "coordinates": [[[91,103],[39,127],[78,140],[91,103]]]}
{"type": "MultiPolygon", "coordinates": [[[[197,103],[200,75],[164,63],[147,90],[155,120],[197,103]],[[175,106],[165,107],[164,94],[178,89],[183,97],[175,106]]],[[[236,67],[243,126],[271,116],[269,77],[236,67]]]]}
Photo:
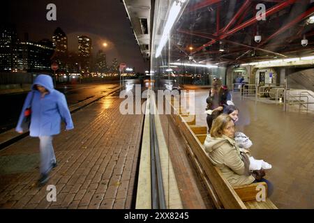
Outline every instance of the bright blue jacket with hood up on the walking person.
{"type": "Polygon", "coordinates": [[[31,107],[31,125],[29,127],[31,137],[59,134],[61,120],[66,123],[66,130],[74,128],[66,97],[63,93],[54,89],[52,77],[49,75],[38,75],[33,82],[15,128],[17,132],[22,131],[21,123],[24,112],[28,107],[31,107]],[[36,89],[36,84],[45,87],[49,91],[44,98],[41,98],[41,93],[36,89]]]}

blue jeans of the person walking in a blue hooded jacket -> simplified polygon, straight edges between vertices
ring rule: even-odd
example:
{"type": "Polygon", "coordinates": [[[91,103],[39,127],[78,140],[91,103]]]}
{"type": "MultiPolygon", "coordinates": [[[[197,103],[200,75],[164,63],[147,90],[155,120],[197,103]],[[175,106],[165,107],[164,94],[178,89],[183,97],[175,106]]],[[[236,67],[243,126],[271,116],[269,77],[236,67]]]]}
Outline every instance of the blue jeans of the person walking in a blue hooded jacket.
{"type": "Polygon", "coordinates": [[[49,174],[56,160],[52,146],[52,136],[40,136],[40,174],[49,174]]]}

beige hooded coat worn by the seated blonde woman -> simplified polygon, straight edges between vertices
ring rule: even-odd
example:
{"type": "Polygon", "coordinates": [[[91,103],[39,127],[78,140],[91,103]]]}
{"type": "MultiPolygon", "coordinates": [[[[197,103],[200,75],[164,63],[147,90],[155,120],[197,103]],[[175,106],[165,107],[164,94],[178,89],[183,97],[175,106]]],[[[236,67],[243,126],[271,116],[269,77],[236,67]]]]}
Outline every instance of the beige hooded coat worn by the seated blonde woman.
{"type": "Polygon", "coordinates": [[[255,178],[247,176],[247,170],[241,159],[237,143],[223,135],[223,137],[211,138],[207,134],[204,142],[205,151],[209,155],[209,160],[220,169],[223,177],[232,186],[253,183],[255,178]]]}

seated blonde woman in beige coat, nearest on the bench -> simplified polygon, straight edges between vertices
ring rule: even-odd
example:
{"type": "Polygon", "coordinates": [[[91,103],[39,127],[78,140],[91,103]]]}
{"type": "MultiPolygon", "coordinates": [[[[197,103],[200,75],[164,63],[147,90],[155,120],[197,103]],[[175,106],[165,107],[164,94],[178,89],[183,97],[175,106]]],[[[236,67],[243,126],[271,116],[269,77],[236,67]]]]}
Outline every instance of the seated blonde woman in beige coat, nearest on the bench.
{"type": "Polygon", "coordinates": [[[234,141],[234,121],[229,115],[221,114],[215,119],[204,147],[209,154],[209,160],[220,169],[230,185],[238,186],[264,181],[269,188],[268,194],[271,195],[272,185],[269,181],[249,170],[248,155],[242,153],[237,142],[234,141]]]}

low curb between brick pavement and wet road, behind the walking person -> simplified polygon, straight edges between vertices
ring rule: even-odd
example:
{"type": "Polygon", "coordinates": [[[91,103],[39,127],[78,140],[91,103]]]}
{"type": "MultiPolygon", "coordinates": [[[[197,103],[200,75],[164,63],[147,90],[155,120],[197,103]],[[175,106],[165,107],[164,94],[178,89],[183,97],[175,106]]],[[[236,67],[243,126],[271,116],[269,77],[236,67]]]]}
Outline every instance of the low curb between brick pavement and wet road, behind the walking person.
{"type": "MultiPolygon", "coordinates": [[[[101,98],[107,97],[108,95],[119,91],[121,89],[120,86],[115,87],[114,89],[111,89],[110,91],[107,91],[101,96],[94,96],[93,98],[89,98],[87,100],[84,100],[82,102],[78,102],[75,105],[70,105],[70,113],[73,114],[74,112],[77,112],[78,110],[82,109],[83,107],[87,107],[88,105],[91,105],[92,103],[96,102],[97,100],[100,100],[101,98]]],[[[3,148],[6,148],[7,146],[10,146],[11,144],[14,144],[15,142],[19,141],[20,139],[23,139],[24,137],[29,136],[29,132],[24,132],[22,134],[19,134],[15,132],[15,128],[10,129],[6,132],[3,132],[0,134],[0,151],[3,148]]]]}

